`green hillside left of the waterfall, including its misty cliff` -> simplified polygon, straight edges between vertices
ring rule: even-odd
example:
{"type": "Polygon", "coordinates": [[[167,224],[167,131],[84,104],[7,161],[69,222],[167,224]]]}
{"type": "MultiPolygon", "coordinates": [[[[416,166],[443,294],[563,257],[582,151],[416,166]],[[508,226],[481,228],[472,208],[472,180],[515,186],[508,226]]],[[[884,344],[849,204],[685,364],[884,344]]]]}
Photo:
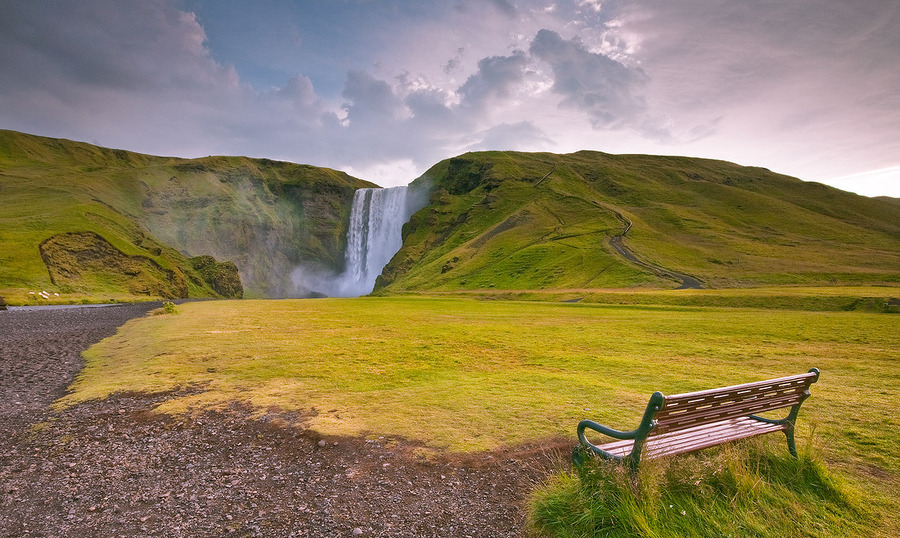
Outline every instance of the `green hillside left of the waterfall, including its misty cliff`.
{"type": "Polygon", "coordinates": [[[153,157],[0,131],[0,295],[239,297],[241,282],[249,296],[302,294],[294,267],[341,269],[362,186],[266,159],[153,157]]]}

